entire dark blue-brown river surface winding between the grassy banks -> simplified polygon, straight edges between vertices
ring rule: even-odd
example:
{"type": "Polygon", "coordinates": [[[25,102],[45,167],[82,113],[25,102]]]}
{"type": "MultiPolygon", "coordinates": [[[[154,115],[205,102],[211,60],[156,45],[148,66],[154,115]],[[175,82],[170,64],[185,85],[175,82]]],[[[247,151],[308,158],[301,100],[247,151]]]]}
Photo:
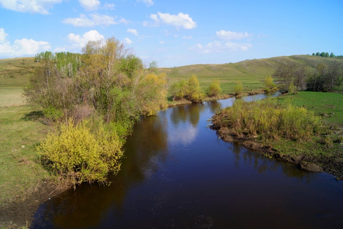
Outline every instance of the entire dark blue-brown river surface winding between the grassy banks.
{"type": "Polygon", "coordinates": [[[143,118],[110,186],[52,198],[32,228],[343,228],[342,181],[224,142],[208,128],[233,101],[143,118]]]}

